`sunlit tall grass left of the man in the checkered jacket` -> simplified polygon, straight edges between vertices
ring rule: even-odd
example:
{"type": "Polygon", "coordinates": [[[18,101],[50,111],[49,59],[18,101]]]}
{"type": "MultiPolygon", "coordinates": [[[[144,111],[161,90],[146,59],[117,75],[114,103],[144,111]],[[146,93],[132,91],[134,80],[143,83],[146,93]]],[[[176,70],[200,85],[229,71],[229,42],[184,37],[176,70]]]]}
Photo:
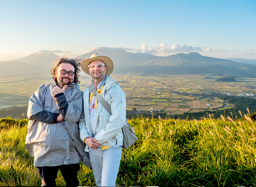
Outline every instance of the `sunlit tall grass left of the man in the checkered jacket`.
{"type": "Polygon", "coordinates": [[[25,149],[27,120],[0,119],[0,186],[40,186],[25,149]]]}

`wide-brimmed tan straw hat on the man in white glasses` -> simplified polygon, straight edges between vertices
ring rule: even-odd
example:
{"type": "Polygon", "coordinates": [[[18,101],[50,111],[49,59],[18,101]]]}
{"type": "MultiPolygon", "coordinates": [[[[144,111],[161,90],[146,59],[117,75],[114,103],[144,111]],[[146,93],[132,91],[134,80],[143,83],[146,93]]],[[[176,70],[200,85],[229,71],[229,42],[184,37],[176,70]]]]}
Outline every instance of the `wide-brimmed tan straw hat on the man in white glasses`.
{"type": "Polygon", "coordinates": [[[105,57],[105,56],[100,56],[99,54],[97,53],[94,53],[90,59],[86,59],[86,60],[83,60],[81,62],[81,68],[82,70],[87,73],[88,75],[90,75],[89,73],[89,70],[88,70],[88,65],[92,62],[92,61],[101,61],[101,62],[104,62],[106,67],[107,67],[107,71],[106,71],[106,75],[110,75],[113,71],[113,68],[114,68],[114,64],[112,62],[112,60],[108,57],[105,57]]]}

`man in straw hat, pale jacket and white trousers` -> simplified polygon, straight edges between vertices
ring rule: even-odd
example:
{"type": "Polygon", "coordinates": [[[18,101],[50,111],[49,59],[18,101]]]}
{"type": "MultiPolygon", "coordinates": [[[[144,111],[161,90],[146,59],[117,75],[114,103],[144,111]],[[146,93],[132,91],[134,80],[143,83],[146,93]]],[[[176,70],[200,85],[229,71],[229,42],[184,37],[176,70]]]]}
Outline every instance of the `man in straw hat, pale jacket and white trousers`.
{"type": "Polygon", "coordinates": [[[95,53],[81,62],[81,68],[92,77],[92,86],[84,90],[85,118],[79,121],[80,138],[89,152],[96,185],[116,186],[122,156],[122,127],[126,122],[126,95],[109,76],[113,71],[110,58],[95,53]],[[110,104],[111,114],[94,92],[110,104]]]}

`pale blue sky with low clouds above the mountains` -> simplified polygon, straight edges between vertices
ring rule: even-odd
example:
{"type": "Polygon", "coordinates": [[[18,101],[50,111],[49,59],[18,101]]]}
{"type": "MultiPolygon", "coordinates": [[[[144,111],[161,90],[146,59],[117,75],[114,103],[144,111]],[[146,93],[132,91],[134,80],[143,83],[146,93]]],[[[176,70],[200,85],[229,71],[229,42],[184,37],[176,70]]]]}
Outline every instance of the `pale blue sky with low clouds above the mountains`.
{"type": "Polygon", "coordinates": [[[256,59],[256,0],[0,0],[0,61],[99,47],[256,59]]]}

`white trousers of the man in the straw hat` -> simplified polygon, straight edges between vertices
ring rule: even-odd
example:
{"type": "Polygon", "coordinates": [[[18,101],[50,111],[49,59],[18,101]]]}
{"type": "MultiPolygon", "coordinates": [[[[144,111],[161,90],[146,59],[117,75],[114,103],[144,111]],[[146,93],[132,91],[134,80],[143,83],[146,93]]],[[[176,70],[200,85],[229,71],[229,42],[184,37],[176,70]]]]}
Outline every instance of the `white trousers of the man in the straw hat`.
{"type": "Polygon", "coordinates": [[[90,149],[89,156],[96,185],[98,187],[115,187],[122,156],[122,146],[105,150],[102,150],[99,146],[96,149],[90,149]]]}

